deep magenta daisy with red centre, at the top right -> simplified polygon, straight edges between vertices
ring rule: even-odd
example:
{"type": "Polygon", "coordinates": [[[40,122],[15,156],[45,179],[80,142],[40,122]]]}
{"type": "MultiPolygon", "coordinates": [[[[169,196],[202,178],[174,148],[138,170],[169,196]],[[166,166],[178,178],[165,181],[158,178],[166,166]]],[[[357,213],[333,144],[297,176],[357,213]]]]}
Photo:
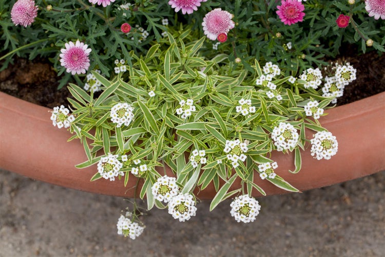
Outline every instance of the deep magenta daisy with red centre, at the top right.
{"type": "Polygon", "coordinates": [[[285,25],[292,25],[303,21],[305,7],[297,0],[282,0],[281,5],[277,6],[277,14],[281,22],[285,25]]]}

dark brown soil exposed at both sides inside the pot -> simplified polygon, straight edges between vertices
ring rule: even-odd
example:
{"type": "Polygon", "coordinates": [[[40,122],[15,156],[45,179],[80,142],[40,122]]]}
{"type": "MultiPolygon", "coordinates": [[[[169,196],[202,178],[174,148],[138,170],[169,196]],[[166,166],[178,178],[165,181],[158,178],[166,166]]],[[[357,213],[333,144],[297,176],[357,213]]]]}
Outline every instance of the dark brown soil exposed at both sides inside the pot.
{"type": "MultiPolygon", "coordinates": [[[[385,91],[385,54],[379,56],[372,51],[361,56],[345,57],[355,55],[352,52],[356,51],[349,50],[337,59],[350,62],[357,69],[357,80],[345,87],[337,105],[385,91]]],[[[66,86],[57,90],[58,85],[56,72],[49,63],[42,61],[16,59],[14,65],[0,72],[0,91],[49,108],[61,104],[68,106],[66,99],[70,93],[66,86]]]]}

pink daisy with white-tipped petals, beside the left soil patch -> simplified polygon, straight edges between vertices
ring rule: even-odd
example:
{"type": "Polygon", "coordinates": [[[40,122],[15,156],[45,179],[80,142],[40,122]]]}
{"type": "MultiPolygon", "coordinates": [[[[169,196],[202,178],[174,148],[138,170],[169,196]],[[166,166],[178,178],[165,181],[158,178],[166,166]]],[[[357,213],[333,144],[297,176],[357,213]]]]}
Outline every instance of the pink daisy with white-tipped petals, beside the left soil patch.
{"type": "Polygon", "coordinates": [[[88,54],[91,49],[79,40],[75,44],[73,42],[66,43],[65,46],[65,49],[60,50],[62,52],[60,64],[67,68],[66,71],[71,72],[72,75],[85,74],[89,67],[88,54]]]}

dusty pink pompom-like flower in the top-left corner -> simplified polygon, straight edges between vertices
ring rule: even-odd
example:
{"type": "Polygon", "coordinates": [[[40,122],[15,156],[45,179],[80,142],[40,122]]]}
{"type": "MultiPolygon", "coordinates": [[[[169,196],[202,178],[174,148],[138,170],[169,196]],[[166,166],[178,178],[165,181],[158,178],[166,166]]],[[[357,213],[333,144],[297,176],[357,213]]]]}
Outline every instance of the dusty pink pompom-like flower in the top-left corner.
{"type": "Polygon", "coordinates": [[[11,19],[17,25],[27,27],[35,21],[37,17],[37,6],[33,0],[18,0],[12,7],[11,19]]]}

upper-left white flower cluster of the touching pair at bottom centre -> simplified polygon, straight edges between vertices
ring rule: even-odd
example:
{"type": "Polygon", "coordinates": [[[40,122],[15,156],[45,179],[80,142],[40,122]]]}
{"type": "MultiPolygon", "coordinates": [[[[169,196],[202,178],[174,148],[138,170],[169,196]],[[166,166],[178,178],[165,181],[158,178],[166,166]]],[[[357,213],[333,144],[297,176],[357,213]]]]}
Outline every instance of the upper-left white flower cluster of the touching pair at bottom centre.
{"type": "Polygon", "coordinates": [[[152,187],[152,195],[159,201],[167,203],[178,194],[177,179],[175,177],[163,176],[157,179],[152,187]]]}

